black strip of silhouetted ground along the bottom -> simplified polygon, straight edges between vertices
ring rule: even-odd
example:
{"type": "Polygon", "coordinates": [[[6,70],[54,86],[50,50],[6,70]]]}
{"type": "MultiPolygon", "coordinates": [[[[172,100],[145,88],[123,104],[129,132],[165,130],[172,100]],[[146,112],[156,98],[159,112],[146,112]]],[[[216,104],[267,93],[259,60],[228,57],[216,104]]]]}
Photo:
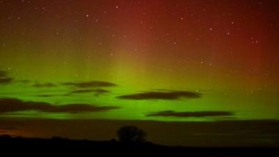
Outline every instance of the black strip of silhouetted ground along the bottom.
{"type": "Polygon", "coordinates": [[[151,142],[122,143],[116,140],[89,141],[0,137],[1,154],[56,156],[279,156],[279,148],[263,147],[168,147],[151,142]]]}

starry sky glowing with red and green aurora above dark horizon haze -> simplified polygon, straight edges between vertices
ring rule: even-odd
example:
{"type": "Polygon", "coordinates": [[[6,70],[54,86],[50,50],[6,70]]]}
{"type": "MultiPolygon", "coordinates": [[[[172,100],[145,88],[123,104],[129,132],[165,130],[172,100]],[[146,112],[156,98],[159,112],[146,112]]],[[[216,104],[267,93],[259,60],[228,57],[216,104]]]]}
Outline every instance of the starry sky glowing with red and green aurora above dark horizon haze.
{"type": "Polygon", "coordinates": [[[1,0],[0,119],[279,120],[278,10],[275,0],[1,0]]]}

